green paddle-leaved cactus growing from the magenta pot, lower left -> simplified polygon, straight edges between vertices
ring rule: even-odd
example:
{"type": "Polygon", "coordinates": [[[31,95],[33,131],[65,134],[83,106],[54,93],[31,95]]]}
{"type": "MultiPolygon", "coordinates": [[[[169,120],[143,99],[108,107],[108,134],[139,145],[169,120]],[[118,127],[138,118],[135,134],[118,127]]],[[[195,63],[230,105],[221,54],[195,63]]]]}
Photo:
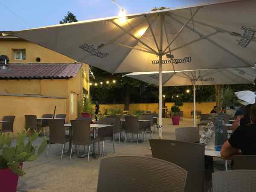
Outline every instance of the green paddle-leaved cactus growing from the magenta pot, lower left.
{"type": "Polygon", "coordinates": [[[37,138],[38,133],[28,134],[23,131],[18,134],[17,140],[14,142],[9,134],[2,133],[0,135],[0,169],[9,168],[15,174],[23,176],[25,173],[21,170],[20,164],[25,161],[37,160],[47,147],[46,138],[44,138],[39,148],[34,146],[33,142],[37,138]],[[27,137],[28,142],[25,143],[27,137]]]}

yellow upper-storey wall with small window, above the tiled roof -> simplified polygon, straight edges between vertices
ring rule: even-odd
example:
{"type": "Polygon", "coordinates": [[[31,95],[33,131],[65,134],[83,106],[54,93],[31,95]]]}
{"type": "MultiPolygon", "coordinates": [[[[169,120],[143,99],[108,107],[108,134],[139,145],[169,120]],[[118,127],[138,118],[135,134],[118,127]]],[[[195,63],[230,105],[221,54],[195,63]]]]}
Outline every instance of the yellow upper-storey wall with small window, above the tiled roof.
{"type": "Polygon", "coordinates": [[[50,49],[20,39],[0,39],[0,55],[7,55],[10,63],[32,63],[37,57],[39,63],[74,63],[75,60],[50,49]],[[26,49],[25,60],[14,59],[14,49],[26,49]]]}

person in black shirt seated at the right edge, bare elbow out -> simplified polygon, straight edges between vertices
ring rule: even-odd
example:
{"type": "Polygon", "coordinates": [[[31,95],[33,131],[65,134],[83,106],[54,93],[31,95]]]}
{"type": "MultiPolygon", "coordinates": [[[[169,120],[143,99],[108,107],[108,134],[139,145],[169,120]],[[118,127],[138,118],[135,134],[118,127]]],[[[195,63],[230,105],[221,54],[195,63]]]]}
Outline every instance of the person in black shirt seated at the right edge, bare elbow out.
{"type": "Polygon", "coordinates": [[[256,155],[256,104],[250,107],[251,123],[239,126],[221,148],[221,157],[230,158],[239,154],[256,155]]]}

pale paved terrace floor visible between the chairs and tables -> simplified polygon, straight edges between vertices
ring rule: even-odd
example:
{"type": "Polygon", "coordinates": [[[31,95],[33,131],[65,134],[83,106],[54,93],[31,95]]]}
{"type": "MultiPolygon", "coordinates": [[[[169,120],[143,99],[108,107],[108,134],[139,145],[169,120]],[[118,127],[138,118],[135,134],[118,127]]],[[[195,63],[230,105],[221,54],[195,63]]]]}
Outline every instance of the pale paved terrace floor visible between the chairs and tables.
{"type": "MultiPolygon", "coordinates": [[[[163,138],[175,139],[175,128],[191,125],[192,119],[183,119],[179,126],[172,125],[172,120],[169,118],[163,119],[163,138]]],[[[153,138],[158,138],[157,133],[153,138]]],[[[38,143],[40,140],[38,139],[38,143]]],[[[148,141],[139,145],[136,142],[115,143],[115,147],[116,153],[113,154],[112,142],[105,144],[105,152],[109,154],[108,157],[151,154],[151,151],[148,150],[148,141]]],[[[82,150],[83,147],[81,146],[80,149],[82,150]]],[[[73,156],[70,161],[68,154],[64,154],[63,159],[60,160],[60,156],[55,156],[59,151],[61,151],[61,144],[51,145],[48,158],[42,154],[38,160],[24,163],[23,170],[26,175],[19,178],[17,191],[96,192],[100,159],[96,160],[90,157],[89,164],[87,164],[87,158],[73,156]]]]}

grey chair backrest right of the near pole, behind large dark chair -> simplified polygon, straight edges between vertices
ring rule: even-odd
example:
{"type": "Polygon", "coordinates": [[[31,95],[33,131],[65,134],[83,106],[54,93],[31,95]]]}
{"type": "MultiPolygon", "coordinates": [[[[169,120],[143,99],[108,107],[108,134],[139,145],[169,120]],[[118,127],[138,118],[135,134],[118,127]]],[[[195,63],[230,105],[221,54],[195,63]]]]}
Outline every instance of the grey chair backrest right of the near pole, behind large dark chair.
{"type": "Polygon", "coordinates": [[[184,127],[175,129],[175,137],[178,141],[186,141],[191,143],[199,142],[200,134],[199,128],[184,127]]]}

